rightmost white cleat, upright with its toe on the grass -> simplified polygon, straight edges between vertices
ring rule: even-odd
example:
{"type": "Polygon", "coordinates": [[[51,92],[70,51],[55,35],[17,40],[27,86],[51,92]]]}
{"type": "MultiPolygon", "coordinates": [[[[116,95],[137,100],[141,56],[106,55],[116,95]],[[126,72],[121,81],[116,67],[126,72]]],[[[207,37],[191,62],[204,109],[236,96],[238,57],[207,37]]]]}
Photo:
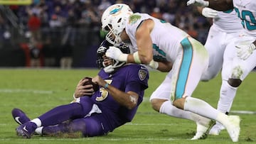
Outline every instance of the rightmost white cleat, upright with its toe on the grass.
{"type": "Polygon", "coordinates": [[[230,135],[230,138],[233,142],[238,142],[238,138],[240,135],[240,117],[239,116],[228,116],[228,119],[230,121],[228,126],[225,126],[225,128],[228,131],[228,134],[230,135]]]}

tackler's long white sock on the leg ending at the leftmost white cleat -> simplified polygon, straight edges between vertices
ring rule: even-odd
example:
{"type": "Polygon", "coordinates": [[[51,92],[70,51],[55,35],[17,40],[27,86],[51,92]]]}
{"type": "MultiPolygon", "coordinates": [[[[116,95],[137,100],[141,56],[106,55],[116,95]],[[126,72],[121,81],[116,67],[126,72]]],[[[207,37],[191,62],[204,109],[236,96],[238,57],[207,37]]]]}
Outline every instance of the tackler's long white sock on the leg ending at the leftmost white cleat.
{"type": "Polygon", "coordinates": [[[201,123],[203,126],[206,126],[210,121],[210,119],[200,116],[196,113],[192,113],[191,111],[184,111],[183,109],[176,108],[176,106],[171,104],[171,101],[165,101],[161,105],[159,113],[165,113],[169,116],[174,116],[176,118],[189,119],[191,121],[201,123]]]}

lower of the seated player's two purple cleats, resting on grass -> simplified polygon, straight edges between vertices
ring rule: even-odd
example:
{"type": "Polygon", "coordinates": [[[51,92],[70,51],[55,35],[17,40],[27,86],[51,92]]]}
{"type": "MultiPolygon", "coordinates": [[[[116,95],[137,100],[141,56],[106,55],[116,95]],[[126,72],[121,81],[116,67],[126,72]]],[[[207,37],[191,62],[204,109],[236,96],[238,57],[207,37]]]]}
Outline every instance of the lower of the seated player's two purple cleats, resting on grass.
{"type": "Polygon", "coordinates": [[[18,126],[18,128],[16,128],[16,133],[23,138],[31,138],[36,128],[36,123],[27,122],[18,126]]]}

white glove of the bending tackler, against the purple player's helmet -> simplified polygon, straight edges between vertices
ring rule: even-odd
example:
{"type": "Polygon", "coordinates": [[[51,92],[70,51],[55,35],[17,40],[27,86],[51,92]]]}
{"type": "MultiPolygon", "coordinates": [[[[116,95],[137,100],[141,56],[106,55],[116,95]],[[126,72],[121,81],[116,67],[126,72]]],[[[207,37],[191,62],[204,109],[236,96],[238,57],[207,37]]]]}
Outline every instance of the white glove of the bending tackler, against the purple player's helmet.
{"type": "Polygon", "coordinates": [[[119,48],[112,47],[107,50],[106,56],[110,57],[114,60],[118,60],[119,62],[127,62],[128,54],[123,53],[119,48]]]}

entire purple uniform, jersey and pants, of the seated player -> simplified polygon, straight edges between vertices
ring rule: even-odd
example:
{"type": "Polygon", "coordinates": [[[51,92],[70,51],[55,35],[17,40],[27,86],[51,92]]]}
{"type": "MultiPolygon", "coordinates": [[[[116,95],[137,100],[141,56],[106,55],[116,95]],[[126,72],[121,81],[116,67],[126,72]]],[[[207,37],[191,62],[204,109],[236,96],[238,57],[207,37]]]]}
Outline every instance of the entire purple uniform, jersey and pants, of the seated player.
{"type": "Polygon", "coordinates": [[[122,92],[136,92],[139,94],[137,106],[127,109],[115,101],[104,87],[92,96],[80,97],[79,103],[57,106],[44,113],[41,119],[44,135],[54,133],[66,133],[67,131],[82,131],[85,136],[105,135],[124,123],[132,121],[139,104],[142,103],[144,90],[148,87],[149,72],[142,65],[125,65],[117,72],[108,74],[104,70],[99,72],[100,77],[122,92]],[[93,106],[97,105],[101,113],[92,112],[93,106]],[[60,123],[73,119],[70,123],[60,123]]]}

